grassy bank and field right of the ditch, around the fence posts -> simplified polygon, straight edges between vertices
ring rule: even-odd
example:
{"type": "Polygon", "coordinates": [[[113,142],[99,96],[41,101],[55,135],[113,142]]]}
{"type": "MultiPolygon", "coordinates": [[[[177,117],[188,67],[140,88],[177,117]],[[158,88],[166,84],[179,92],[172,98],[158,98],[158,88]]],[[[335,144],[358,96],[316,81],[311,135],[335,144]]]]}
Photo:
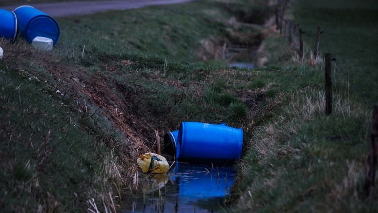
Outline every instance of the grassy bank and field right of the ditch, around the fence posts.
{"type": "Polygon", "coordinates": [[[304,62],[291,57],[279,35],[263,43],[287,104],[250,140],[233,211],[377,212],[376,196],[366,199],[363,184],[371,103],[378,100],[378,4],[303,0],[290,8],[288,15],[306,31],[307,55],[304,62]],[[323,58],[309,56],[317,26],[324,31],[321,53],[336,58],[330,116],[324,113],[323,58]]]}

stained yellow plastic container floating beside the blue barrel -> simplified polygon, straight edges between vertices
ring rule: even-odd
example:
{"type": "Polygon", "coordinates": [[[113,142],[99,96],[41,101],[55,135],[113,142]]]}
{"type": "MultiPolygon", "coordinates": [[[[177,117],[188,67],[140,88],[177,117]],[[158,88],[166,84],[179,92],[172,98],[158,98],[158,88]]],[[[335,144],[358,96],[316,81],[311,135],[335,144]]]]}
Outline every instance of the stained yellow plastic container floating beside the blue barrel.
{"type": "Polygon", "coordinates": [[[169,170],[167,159],[155,153],[144,153],[136,162],[144,173],[167,173],[169,170]]]}

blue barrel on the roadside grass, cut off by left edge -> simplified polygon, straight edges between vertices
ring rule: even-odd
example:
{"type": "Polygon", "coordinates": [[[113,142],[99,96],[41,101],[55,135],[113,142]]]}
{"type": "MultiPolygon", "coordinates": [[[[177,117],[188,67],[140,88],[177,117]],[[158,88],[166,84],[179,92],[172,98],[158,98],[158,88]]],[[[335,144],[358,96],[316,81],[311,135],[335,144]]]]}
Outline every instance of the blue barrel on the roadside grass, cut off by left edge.
{"type": "Polygon", "coordinates": [[[0,37],[14,42],[17,36],[17,17],[12,11],[0,9],[0,37]]]}

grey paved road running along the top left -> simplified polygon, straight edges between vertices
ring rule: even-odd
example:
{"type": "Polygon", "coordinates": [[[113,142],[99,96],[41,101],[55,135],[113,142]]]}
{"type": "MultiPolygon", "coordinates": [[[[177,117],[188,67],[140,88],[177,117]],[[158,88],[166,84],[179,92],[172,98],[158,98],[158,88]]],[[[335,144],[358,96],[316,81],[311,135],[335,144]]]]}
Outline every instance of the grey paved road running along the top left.
{"type": "MultiPolygon", "coordinates": [[[[125,10],[150,5],[186,3],[192,0],[110,0],[110,1],[73,1],[59,3],[28,4],[52,17],[86,15],[107,10],[125,10]]],[[[14,10],[20,5],[4,6],[1,9],[14,10]]]]}

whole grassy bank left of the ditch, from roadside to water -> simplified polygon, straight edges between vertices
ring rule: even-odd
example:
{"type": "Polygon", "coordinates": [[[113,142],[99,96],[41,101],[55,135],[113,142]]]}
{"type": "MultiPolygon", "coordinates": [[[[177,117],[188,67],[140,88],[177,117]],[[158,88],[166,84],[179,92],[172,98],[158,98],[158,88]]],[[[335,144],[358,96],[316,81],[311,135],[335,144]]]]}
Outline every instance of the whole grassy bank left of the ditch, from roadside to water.
{"type": "Polygon", "coordinates": [[[157,127],[163,138],[180,121],[224,121],[248,135],[278,103],[274,76],[219,59],[224,43],[261,40],[238,20],[266,8],[209,0],[61,18],[49,53],[1,41],[2,210],[122,208],[157,127]]]}

